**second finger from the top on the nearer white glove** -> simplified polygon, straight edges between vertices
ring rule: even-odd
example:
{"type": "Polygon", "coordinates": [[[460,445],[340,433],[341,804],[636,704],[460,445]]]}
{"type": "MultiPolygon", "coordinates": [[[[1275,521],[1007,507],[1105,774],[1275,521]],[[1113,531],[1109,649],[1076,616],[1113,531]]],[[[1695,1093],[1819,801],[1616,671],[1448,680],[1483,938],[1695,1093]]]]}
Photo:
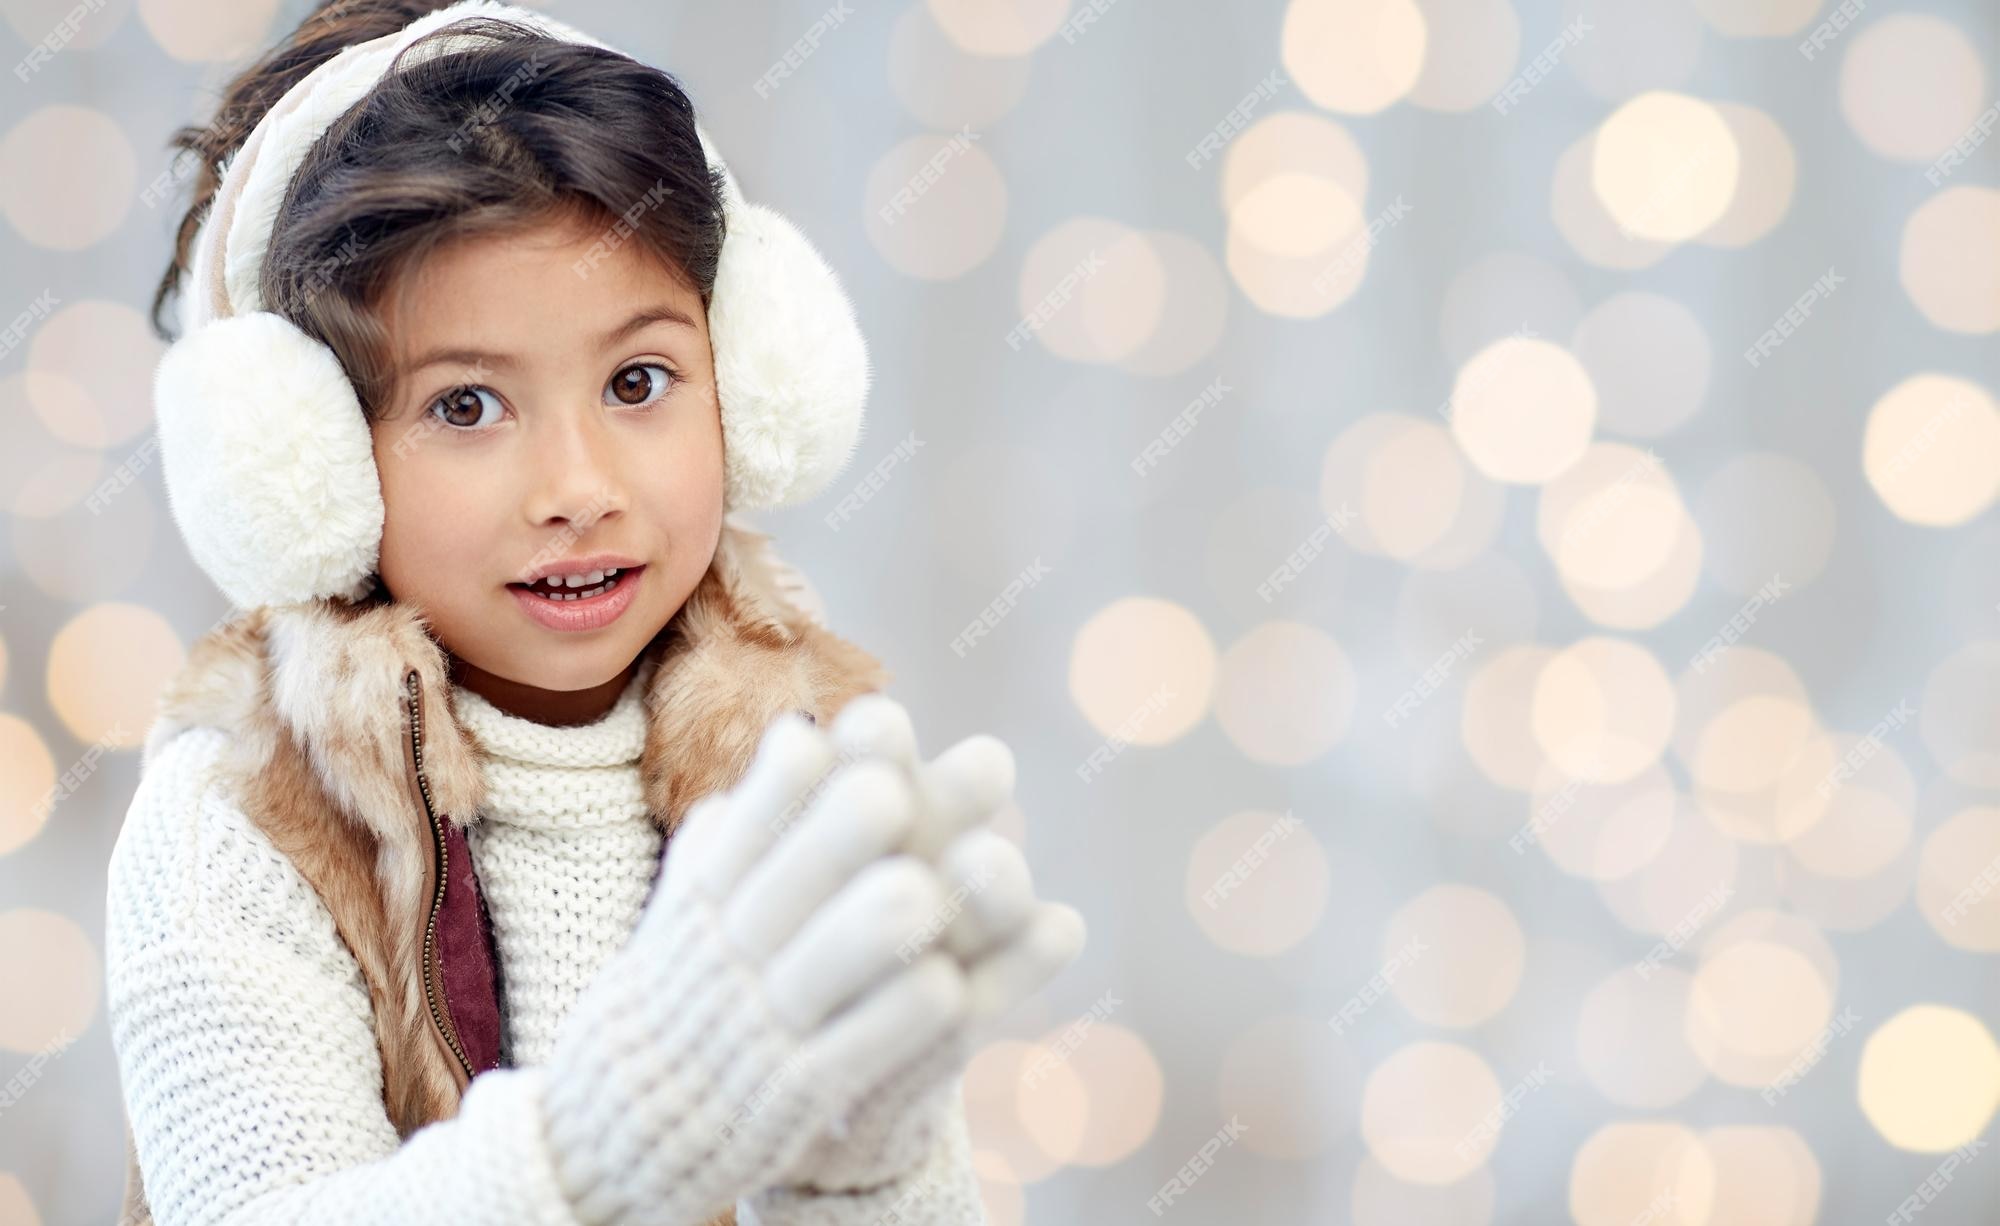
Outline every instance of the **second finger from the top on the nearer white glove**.
{"type": "Polygon", "coordinates": [[[894,850],[914,818],[916,796],[894,766],[876,760],[842,766],[806,816],[736,886],[724,908],[730,940],[762,962],[870,860],[894,850]]]}

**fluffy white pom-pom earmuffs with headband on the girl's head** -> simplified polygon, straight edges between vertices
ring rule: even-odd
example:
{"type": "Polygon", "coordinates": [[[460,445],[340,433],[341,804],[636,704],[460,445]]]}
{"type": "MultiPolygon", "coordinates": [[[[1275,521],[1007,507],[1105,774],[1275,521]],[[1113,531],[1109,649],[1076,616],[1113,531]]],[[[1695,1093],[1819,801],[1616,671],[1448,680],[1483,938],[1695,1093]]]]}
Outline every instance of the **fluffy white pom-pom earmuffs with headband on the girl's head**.
{"type": "MultiPolygon", "coordinates": [[[[160,468],[188,552],[240,608],[360,600],[372,586],[382,484],[360,400],[330,348],[264,310],[258,282],[278,208],[312,144],[398,52],[468,16],[604,46],[534,10],[462,0],[344,48],[258,122],[196,234],[184,338],[154,376],[160,468]]],[[[446,34],[416,54],[450,54],[466,40],[446,34]]],[[[700,140],[724,178],[726,238],[708,306],[724,498],[730,510],[788,506],[824,490],[854,452],[868,348],[806,236],[744,202],[708,134],[700,140]]]]}

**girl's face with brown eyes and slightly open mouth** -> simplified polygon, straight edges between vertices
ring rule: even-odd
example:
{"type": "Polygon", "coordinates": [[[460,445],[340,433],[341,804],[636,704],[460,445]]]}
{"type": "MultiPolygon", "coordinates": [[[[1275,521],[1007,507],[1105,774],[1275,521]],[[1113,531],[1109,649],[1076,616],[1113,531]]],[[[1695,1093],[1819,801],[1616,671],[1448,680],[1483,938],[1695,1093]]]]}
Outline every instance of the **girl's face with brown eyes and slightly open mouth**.
{"type": "Polygon", "coordinates": [[[544,722],[594,718],[722,532],[700,294],[632,238],[550,220],[438,248],[386,298],[382,584],[424,612],[466,688],[544,722]],[[604,602],[530,604],[546,598],[524,580],[592,554],[630,562],[630,590],[608,596],[628,606],[558,628],[602,620],[604,602]]]}

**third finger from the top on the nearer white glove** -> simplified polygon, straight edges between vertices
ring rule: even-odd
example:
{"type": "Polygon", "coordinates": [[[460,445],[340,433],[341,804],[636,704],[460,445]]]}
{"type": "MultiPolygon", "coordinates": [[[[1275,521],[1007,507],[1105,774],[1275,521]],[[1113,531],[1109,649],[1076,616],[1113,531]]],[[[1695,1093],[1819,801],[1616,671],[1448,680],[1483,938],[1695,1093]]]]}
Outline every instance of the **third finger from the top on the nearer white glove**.
{"type": "Polygon", "coordinates": [[[814,910],[764,964],[772,1010],[810,1030],[914,962],[944,926],[944,886],[930,864],[888,856],[814,910]]]}

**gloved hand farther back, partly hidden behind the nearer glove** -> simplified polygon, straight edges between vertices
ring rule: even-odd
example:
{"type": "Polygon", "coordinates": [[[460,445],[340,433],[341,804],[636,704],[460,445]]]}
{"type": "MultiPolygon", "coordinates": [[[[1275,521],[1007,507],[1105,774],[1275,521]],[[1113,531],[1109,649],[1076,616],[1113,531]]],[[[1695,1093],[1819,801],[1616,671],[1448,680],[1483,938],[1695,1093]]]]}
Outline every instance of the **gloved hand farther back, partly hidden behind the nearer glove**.
{"type": "MultiPolygon", "coordinates": [[[[910,942],[936,940],[968,984],[966,1014],[876,1080],[784,1174],[784,1184],[860,1190],[922,1166],[964,1110],[958,1082],[972,1058],[974,1026],[1068,966],[1082,950],[1084,922],[1074,908],[1036,900],[1020,850],[984,828],[1014,792],[1014,756],[1002,742],[972,736],[922,762],[908,712],[880,694],[842,708],[832,738],[842,756],[880,758],[910,774],[918,812],[900,850],[932,858],[944,882],[942,910],[910,942]]],[[[916,948],[906,944],[904,954],[916,956],[916,948]]]]}

